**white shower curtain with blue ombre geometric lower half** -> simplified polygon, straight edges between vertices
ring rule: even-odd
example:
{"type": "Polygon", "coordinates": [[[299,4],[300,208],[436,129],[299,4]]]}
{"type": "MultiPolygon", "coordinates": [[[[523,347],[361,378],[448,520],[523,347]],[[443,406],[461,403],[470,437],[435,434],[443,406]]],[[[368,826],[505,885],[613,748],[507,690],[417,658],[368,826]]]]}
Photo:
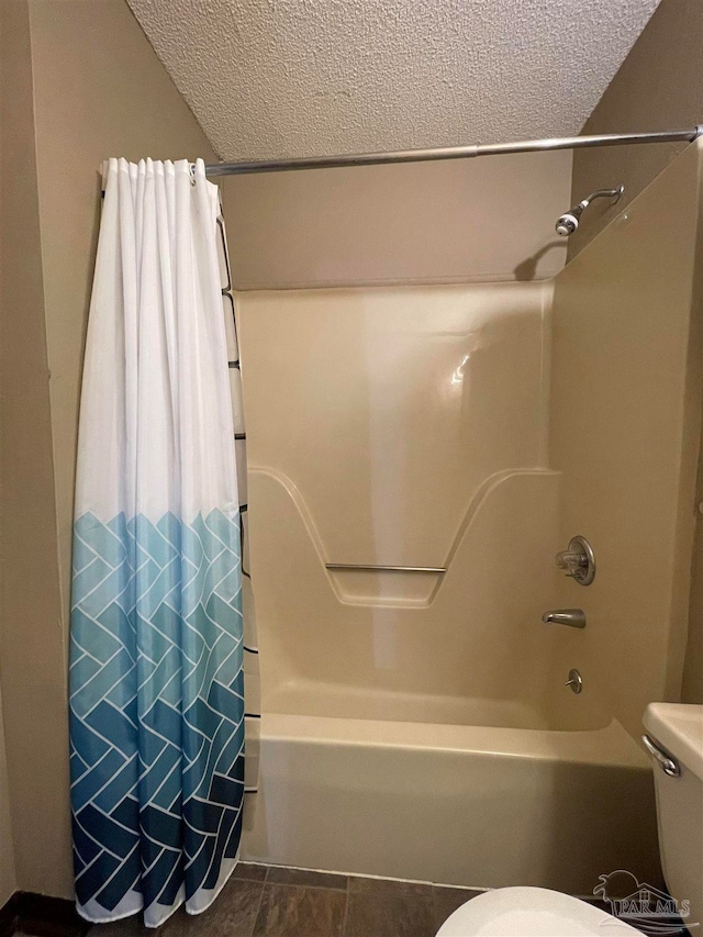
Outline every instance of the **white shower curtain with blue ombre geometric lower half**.
{"type": "Polygon", "coordinates": [[[242,540],[204,165],[111,159],[80,408],[70,648],[77,906],[203,911],[244,800],[242,540]]]}

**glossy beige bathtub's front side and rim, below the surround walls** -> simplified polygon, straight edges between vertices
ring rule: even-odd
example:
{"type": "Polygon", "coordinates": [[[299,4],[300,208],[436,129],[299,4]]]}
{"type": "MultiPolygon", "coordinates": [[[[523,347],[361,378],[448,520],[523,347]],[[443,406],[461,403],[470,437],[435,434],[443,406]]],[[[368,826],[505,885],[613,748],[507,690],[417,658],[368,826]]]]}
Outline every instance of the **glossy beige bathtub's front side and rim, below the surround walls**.
{"type": "Polygon", "coordinates": [[[659,879],[651,771],[588,732],[265,714],[252,861],[470,888],[590,894],[659,879]]]}

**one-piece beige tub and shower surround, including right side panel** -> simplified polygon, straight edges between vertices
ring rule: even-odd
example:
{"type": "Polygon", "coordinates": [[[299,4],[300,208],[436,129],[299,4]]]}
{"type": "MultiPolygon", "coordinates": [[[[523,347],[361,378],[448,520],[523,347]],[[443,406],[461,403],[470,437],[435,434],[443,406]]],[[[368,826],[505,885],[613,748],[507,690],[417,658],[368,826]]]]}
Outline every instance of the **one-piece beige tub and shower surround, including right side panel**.
{"type": "Polygon", "coordinates": [[[247,858],[571,893],[656,878],[634,736],[685,642],[700,153],[555,280],[237,295],[264,713],[247,858]],[[588,589],[554,565],[574,534],[588,589]],[[576,605],[583,632],[540,622],[576,605]]]}

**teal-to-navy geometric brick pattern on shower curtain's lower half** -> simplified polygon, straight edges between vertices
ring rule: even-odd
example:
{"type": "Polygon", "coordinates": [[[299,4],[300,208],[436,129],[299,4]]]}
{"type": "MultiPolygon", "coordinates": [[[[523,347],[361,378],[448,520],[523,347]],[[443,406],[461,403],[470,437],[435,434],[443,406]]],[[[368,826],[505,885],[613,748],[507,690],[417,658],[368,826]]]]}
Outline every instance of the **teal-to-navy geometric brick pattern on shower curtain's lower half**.
{"type": "Polygon", "coordinates": [[[222,859],[236,856],[239,536],[238,518],[217,510],[190,526],[170,513],[157,524],[123,514],[76,521],[71,774],[81,904],[94,899],[113,911],[134,890],[147,906],[170,906],[183,882],[187,899],[212,890],[222,859]]]}

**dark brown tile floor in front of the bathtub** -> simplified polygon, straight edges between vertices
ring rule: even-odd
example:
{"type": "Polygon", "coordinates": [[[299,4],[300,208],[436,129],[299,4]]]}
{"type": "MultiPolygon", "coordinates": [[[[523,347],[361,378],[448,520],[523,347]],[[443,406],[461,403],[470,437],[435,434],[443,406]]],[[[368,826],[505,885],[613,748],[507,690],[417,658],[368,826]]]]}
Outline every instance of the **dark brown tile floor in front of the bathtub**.
{"type": "MultiPolygon", "coordinates": [[[[332,875],[241,862],[222,894],[196,917],[178,911],[159,937],[434,937],[479,892],[332,875]]],[[[89,937],[154,937],[137,917],[89,937]]]]}

